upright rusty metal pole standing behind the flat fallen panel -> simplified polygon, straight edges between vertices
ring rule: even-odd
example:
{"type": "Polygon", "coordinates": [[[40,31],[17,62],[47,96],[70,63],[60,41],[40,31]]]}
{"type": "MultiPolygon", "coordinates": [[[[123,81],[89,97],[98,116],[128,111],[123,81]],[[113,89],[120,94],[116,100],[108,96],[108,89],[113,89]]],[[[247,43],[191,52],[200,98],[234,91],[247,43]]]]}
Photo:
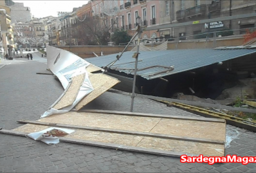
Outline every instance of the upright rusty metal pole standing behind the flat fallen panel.
{"type": "Polygon", "coordinates": [[[136,26],[136,31],[138,33],[138,44],[137,44],[137,51],[136,53],[134,53],[133,57],[135,58],[135,69],[134,69],[134,83],[133,83],[133,86],[132,86],[132,94],[131,94],[131,112],[134,111],[134,92],[135,92],[135,87],[136,87],[136,75],[137,75],[137,68],[138,68],[138,54],[139,51],[140,51],[140,37],[141,37],[141,28],[140,28],[140,17],[138,16],[136,18],[136,23],[137,23],[137,26],[136,26]]]}

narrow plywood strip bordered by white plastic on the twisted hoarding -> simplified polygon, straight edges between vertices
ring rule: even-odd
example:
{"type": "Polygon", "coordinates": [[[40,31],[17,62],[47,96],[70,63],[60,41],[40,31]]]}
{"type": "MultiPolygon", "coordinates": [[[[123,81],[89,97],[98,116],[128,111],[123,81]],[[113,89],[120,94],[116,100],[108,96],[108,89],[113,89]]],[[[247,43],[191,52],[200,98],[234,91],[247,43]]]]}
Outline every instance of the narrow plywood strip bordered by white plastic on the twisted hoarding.
{"type": "Polygon", "coordinates": [[[75,101],[75,98],[77,97],[77,94],[80,90],[80,87],[82,86],[82,83],[84,82],[85,73],[82,73],[81,75],[76,75],[71,79],[71,85],[68,87],[66,91],[64,91],[64,95],[62,95],[60,100],[55,104],[53,107],[54,109],[62,109],[64,107],[68,107],[69,105],[73,104],[75,101]]]}

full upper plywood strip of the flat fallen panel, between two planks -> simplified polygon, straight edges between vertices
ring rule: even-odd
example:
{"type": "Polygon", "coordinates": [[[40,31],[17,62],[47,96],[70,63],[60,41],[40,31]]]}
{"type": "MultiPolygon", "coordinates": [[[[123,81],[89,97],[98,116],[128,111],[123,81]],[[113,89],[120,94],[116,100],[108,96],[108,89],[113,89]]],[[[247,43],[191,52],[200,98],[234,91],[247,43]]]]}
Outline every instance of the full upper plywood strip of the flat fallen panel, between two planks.
{"type": "Polygon", "coordinates": [[[120,116],[105,113],[86,113],[75,111],[55,114],[53,116],[42,118],[38,121],[65,125],[79,125],[84,127],[152,132],[155,134],[168,134],[222,141],[225,141],[226,130],[226,124],[223,122],[200,122],[196,120],[120,116]],[[168,125],[169,123],[170,125],[168,125]]]}

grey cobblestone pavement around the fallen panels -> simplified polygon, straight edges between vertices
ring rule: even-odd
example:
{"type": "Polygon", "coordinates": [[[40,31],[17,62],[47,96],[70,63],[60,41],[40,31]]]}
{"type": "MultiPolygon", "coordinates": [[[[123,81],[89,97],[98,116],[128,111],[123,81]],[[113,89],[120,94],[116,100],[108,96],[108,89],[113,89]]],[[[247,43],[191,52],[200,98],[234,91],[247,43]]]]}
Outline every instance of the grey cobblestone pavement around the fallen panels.
{"type": "MultiPolygon", "coordinates": [[[[34,55],[35,60],[39,58],[34,55]]],[[[46,72],[43,60],[7,64],[0,69],[0,127],[14,129],[21,119],[37,120],[62,94],[62,86],[46,72]]],[[[1,64],[0,64],[1,65],[1,64]]],[[[129,111],[130,98],[106,92],[87,109],[129,111]]],[[[196,116],[152,100],[135,98],[134,111],[196,116]]],[[[235,133],[226,154],[256,156],[255,133],[227,125],[235,133]],[[235,138],[236,137],[236,138],[235,138]]],[[[71,143],[46,145],[29,138],[0,134],[0,172],[255,172],[255,164],[180,163],[179,158],[125,152],[71,143]]]]}

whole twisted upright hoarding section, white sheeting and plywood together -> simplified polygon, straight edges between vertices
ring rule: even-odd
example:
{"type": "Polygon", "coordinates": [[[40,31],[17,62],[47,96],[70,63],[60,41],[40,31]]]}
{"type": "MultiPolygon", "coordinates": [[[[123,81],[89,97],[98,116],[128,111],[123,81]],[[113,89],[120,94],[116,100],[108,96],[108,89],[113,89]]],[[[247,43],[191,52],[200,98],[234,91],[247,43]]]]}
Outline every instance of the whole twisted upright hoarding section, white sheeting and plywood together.
{"type": "Polygon", "coordinates": [[[102,69],[68,51],[47,46],[47,54],[48,69],[57,76],[65,90],[41,118],[66,113],[74,107],[79,110],[119,82],[104,73],[92,73],[102,69]]]}

